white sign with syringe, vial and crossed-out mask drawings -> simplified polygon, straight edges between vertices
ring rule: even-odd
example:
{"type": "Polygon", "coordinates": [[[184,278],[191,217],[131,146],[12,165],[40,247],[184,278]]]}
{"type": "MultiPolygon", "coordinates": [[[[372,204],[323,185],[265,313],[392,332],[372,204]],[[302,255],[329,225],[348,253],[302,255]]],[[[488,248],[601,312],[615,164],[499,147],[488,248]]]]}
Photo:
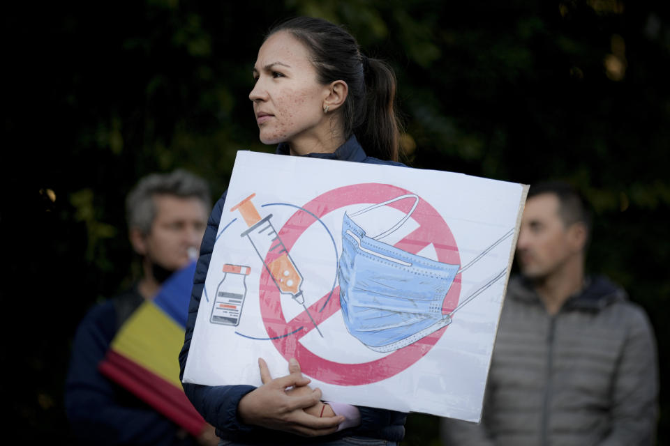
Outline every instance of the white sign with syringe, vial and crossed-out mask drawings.
{"type": "Polygon", "coordinates": [[[528,187],[237,153],[184,382],[479,421],[528,187]]]}

